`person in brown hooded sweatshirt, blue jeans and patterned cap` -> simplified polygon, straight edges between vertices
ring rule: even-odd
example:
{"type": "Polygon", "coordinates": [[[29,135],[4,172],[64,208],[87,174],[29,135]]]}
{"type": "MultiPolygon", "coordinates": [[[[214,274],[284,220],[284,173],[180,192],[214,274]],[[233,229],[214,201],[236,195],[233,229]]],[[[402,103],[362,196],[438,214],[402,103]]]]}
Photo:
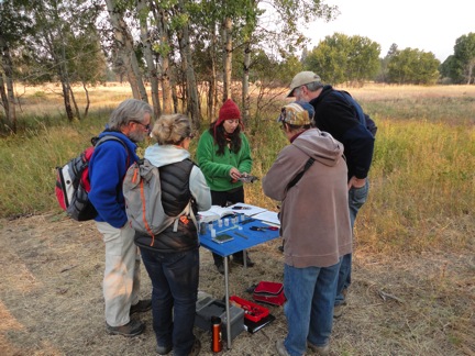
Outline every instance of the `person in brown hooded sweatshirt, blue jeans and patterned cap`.
{"type": "Polygon", "coordinates": [[[307,346],[328,355],[341,257],[352,251],[344,148],[311,127],[313,113],[303,101],[281,109],[290,144],[263,178],[264,193],[281,201],[288,334],[276,347],[283,356],[303,355],[307,346]]]}

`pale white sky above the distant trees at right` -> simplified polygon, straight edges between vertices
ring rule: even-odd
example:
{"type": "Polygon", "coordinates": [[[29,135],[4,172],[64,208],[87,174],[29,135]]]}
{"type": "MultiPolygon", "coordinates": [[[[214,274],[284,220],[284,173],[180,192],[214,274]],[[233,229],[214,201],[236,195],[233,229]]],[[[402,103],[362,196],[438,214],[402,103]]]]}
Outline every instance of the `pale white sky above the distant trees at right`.
{"type": "Polygon", "coordinates": [[[341,14],[329,23],[312,22],[303,32],[309,49],[335,32],[368,37],[385,57],[393,43],[398,49],[432,52],[441,63],[453,54],[456,38],[475,33],[474,0],[324,0],[341,14]]]}

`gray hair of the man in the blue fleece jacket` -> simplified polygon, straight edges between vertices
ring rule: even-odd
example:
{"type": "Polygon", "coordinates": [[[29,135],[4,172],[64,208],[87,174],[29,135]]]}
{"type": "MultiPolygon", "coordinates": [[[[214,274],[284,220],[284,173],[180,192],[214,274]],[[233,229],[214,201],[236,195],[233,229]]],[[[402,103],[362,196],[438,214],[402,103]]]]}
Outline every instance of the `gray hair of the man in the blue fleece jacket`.
{"type": "Polygon", "coordinates": [[[112,111],[108,126],[110,130],[120,131],[131,121],[143,122],[146,113],[153,118],[153,108],[148,103],[139,99],[126,99],[112,111]]]}

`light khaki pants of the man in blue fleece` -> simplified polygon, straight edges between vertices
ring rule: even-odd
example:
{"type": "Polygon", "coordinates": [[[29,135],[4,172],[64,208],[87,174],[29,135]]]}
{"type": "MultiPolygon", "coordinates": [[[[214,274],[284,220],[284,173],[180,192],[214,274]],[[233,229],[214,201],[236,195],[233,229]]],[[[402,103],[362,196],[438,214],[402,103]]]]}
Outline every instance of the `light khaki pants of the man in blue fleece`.
{"type": "Polygon", "coordinates": [[[130,322],[130,308],[139,302],[140,254],[134,244],[135,231],[125,224],[115,229],[106,222],[96,222],[103,235],[106,266],[102,291],[106,302],[106,322],[122,326],[130,322]]]}

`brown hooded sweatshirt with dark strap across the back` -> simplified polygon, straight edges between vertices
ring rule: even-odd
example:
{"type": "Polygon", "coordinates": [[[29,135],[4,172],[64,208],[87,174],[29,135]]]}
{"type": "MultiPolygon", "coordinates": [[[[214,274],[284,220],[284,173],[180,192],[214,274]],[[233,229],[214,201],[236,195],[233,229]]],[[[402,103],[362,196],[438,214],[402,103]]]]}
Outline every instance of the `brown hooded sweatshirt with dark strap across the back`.
{"type": "Polygon", "coordinates": [[[263,189],[281,201],[287,265],[329,267],[352,252],[346,175],[343,145],[318,129],[305,131],[278,154],[263,178],[263,189]],[[287,189],[310,157],[312,166],[287,189]]]}

